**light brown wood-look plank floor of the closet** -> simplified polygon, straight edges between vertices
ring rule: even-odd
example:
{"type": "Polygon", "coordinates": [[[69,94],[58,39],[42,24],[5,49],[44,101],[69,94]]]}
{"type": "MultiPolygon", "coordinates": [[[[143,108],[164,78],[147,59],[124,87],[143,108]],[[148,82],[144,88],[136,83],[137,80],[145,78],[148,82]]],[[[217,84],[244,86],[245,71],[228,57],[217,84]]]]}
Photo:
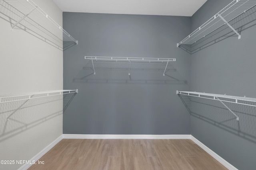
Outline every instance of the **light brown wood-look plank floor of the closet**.
{"type": "Polygon", "coordinates": [[[62,139],[29,170],[226,170],[190,139],[62,139]]]}

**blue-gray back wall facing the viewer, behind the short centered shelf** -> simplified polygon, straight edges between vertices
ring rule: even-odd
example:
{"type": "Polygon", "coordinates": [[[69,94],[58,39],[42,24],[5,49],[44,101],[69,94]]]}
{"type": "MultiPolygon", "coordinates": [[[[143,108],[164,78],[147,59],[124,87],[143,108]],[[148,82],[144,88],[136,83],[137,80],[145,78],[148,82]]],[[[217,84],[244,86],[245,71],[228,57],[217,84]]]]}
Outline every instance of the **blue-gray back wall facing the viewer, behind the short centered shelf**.
{"type": "Polygon", "coordinates": [[[176,43],[189,34],[191,18],[64,12],[63,24],[79,41],[64,50],[64,88],[79,93],[64,111],[63,133],[190,134],[190,114],[176,95],[189,90],[190,54],[176,43]],[[98,61],[94,75],[84,56],[177,61],[166,76],[162,63],[132,63],[128,76],[128,63],[98,61]]]}

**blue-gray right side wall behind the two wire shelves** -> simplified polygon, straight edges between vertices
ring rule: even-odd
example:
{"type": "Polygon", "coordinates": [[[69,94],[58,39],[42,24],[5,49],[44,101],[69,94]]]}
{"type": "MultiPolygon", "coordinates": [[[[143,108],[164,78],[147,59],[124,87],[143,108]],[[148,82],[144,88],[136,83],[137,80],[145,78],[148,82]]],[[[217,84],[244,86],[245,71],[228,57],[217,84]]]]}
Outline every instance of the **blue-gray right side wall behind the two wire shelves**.
{"type": "MultiPolygon", "coordinates": [[[[208,0],[192,16],[192,31],[232,0],[208,0]]],[[[191,90],[256,98],[256,9],[230,22],[192,46],[191,90]]],[[[191,98],[191,134],[239,170],[256,167],[256,108],[191,98]]]]}

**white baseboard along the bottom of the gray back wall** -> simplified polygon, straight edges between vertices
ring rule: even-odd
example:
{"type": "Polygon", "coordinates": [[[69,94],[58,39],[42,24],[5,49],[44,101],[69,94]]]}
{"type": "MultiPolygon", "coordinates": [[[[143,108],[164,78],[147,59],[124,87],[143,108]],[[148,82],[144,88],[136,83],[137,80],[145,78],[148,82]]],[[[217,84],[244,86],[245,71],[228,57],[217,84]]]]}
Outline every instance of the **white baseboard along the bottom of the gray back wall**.
{"type": "Polygon", "coordinates": [[[63,139],[190,139],[191,135],[87,135],[63,134],[63,139]]]}

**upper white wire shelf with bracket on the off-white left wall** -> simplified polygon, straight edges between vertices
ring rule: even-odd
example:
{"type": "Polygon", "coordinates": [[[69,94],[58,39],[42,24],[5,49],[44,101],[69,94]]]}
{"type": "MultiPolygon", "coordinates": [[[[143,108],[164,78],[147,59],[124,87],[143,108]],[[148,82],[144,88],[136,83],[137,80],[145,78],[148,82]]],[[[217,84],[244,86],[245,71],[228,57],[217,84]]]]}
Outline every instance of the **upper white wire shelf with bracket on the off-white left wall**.
{"type": "MultiPolygon", "coordinates": [[[[67,31],[65,31],[56,21],[54,21],[48,14],[46,14],[39,6],[32,0],[0,0],[0,5],[5,14],[16,18],[16,23],[11,26],[11,31],[18,24],[32,25],[59,43],[62,41],[78,41],[74,39],[67,31]]],[[[29,26],[28,26],[29,27],[29,26]]],[[[32,29],[31,27],[29,27],[32,29]]]]}

